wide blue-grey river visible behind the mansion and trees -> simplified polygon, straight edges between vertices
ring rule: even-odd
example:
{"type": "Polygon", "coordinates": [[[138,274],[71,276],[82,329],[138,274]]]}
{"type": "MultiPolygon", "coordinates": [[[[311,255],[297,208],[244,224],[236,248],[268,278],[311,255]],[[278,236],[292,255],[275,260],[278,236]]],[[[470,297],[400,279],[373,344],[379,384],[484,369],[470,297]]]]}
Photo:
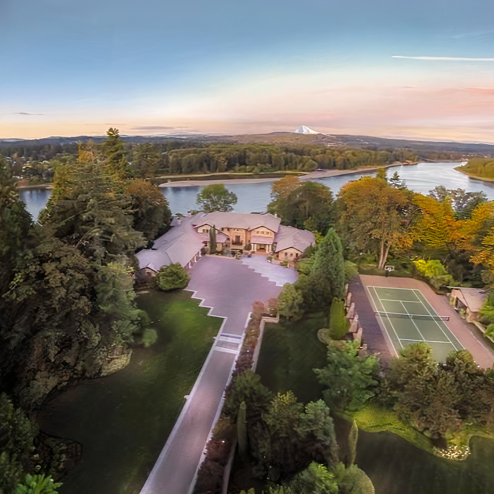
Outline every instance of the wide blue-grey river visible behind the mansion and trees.
{"type": "MultiPolygon", "coordinates": [[[[428,193],[436,185],[444,185],[448,189],[462,188],[467,192],[486,193],[489,199],[494,199],[494,182],[483,182],[471,179],[467,175],[456,171],[454,168],[459,163],[419,163],[418,165],[394,166],[388,168],[387,175],[391,177],[395,171],[400,178],[405,181],[407,187],[415,192],[428,193]]],[[[315,182],[327,185],[336,195],[340,187],[352,180],[358,180],[364,175],[373,175],[375,171],[349,173],[338,175],[337,177],[327,177],[316,179],[315,182]]],[[[225,186],[231,192],[235,192],[238,198],[234,206],[236,213],[264,213],[266,206],[271,201],[271,182],[261,182],[254,184],[228,184],[225,186]]],[[[205,183],[207,185],[207,183],[205,183]]],[[[196,196],[204,186],[186,187],[160,187],[163,195],[170,203],[173,214],[187,214],[187,211],[195,209],[196,196]]],[[[21,199],[26,203],[27,210],[34,219],[38,218],[39,211],[45,206],[50,197],[50,189],[21,189],[21,199]]]]}

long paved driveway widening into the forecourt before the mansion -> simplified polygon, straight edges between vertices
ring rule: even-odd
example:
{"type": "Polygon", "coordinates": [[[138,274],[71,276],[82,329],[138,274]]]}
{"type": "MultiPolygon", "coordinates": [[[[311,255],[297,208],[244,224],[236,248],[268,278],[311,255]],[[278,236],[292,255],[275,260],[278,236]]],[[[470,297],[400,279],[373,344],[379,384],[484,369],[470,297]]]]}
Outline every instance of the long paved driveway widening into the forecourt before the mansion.
{"type": "Polygon", "coordinates": [[[280,266],[266,266],[269,279],[262,277],[259,261],[256,270],[240,260],[207,256],[191,270],[188,290],[213,307],[210,315],[226,317],[204,362],[201,373],[177,419],[163,451],[151,471],[141,494],[187,494],[195,479],[209,431],[237,356],[246,319],[255,301],[277,297],[288,272],[280,266]],[[278,269],[274,269],[278,268],[278,269]]]}

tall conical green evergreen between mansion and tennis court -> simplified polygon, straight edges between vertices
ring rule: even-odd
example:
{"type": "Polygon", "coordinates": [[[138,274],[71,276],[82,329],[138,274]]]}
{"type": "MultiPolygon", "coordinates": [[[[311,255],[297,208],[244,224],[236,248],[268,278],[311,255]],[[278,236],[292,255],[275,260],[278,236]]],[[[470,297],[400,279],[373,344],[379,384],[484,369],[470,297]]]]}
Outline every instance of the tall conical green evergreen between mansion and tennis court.
{"type": "Polygon", "coordinates": [[[333,297],[341,298],[345,288],[345,261],[340,237],[333,228],[320,243],[311,269],[316,298],[322,306],[331,305],[333,297]]]}

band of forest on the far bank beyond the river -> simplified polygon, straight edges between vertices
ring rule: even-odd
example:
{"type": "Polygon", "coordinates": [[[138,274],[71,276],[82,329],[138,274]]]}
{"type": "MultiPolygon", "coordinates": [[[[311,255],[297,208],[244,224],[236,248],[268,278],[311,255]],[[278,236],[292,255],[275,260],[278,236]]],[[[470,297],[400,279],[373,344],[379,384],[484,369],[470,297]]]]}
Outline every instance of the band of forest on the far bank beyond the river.
{"type": "MultiPolygon", "coordinates": [[[[86,153],[97,155],[104,146],[92,141],[80,144],[86,153]]],[[[75,144],[3,147],[14,174],[32,185],[51,182],[60,162],[77,156],[75,144]]],[[[165,143],[122,142],[122,152],[133,177],[167,174],[310,172],[316,168],[355,169],[416,161],[410,149],[365,150],[303,144],[201,144],[170,140],[165,143]],[[191,147],[192,145],[192,147],[191,147]]]]}

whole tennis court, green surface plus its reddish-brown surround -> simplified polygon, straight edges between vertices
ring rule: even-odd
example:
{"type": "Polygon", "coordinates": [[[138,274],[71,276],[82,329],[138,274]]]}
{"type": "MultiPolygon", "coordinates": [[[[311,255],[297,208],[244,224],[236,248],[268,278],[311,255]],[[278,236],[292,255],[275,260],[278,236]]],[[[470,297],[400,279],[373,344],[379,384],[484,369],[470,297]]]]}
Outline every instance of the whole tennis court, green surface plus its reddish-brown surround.
{"type": "Polygon", "coordinates": [[[494,364],[494,351],[479,329],[462,320],[448,298],[434,293],[424,281],[368,275],[360,279],[392,354],[425,341],[438,361],[452,349],[466,348],[481,367],[494,364]]]}

